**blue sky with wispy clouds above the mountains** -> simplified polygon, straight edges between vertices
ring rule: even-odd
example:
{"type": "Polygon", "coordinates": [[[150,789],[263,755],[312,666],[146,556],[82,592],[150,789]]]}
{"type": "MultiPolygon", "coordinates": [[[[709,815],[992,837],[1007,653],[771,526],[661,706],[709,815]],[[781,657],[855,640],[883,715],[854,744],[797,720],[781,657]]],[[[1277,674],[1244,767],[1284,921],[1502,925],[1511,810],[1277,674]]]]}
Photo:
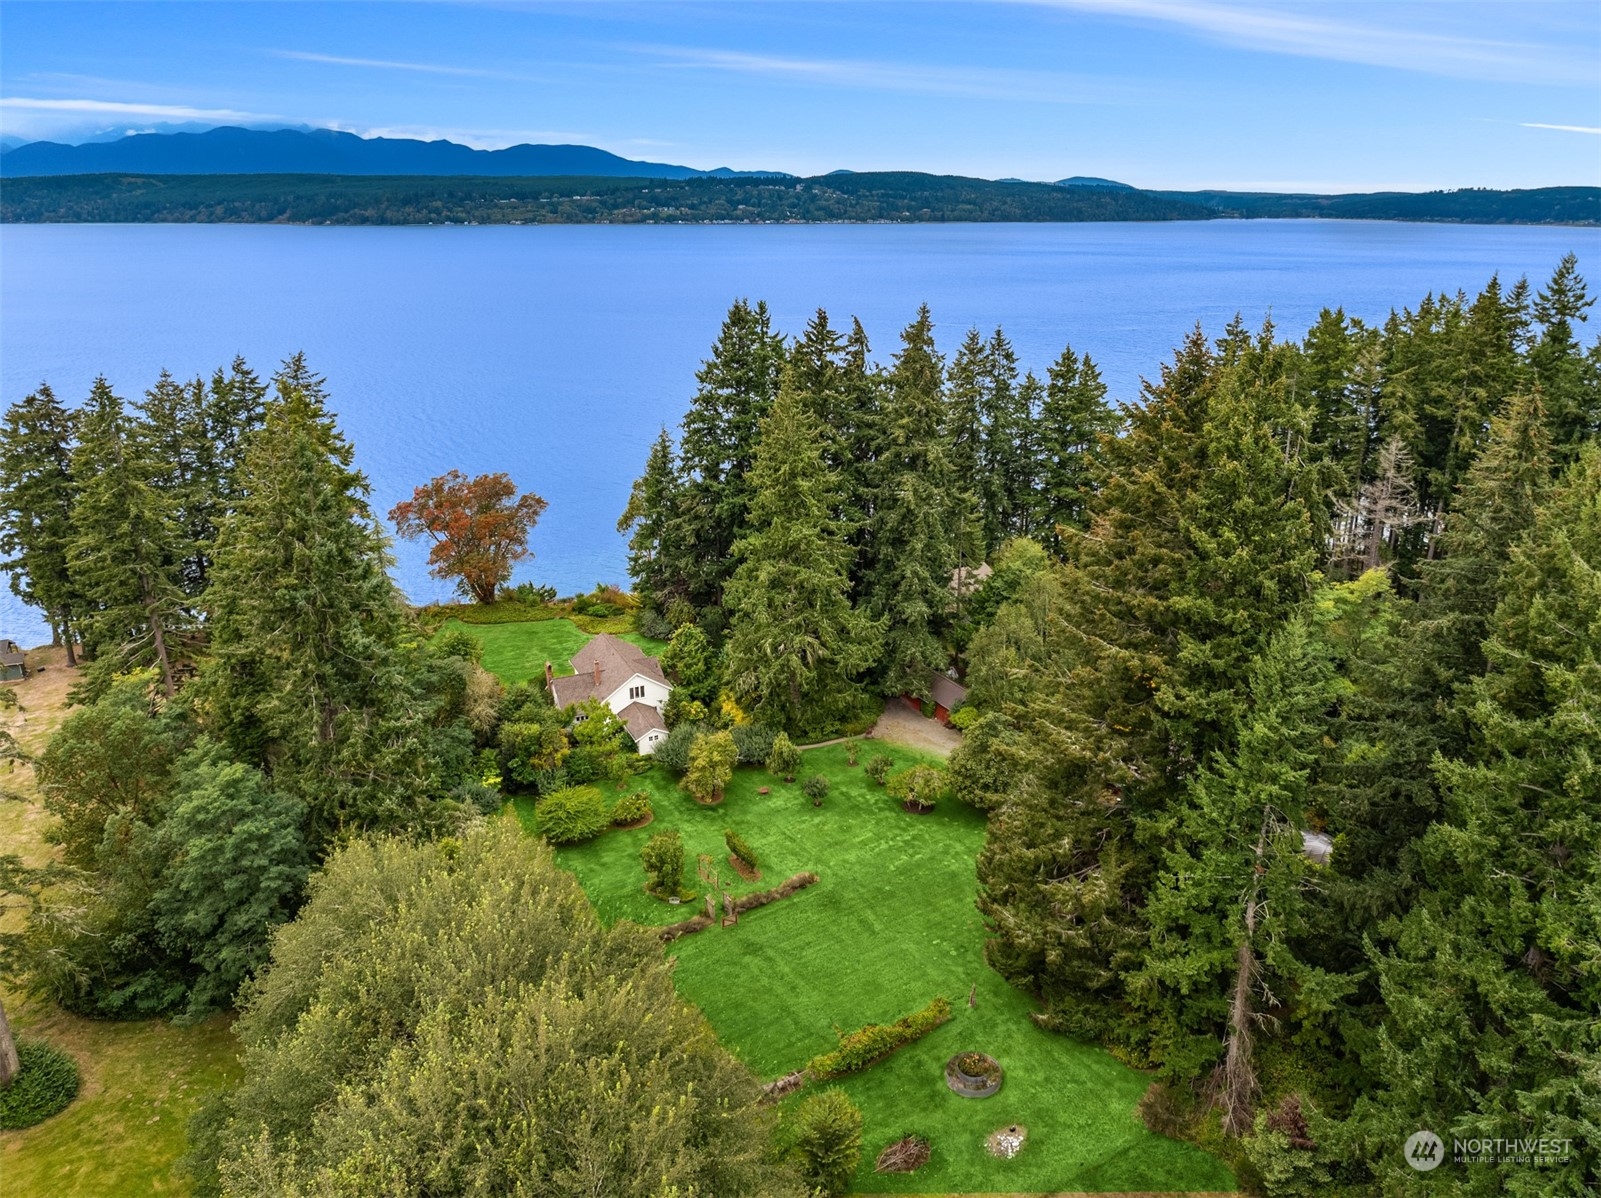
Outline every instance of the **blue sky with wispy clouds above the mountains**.
{"type": "Polygon", "coordinates": [[[181,123],[794,173],[1598,184],[1601,3],[0,3],[0,133],[181,123]]]}

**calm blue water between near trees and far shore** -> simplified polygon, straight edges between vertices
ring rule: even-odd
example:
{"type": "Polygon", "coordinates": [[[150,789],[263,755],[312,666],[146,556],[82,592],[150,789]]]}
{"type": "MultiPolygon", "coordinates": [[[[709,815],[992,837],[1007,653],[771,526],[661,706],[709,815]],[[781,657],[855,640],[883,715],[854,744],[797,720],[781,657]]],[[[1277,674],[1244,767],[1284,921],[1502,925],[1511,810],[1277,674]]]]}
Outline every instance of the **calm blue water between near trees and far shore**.
{"type": "MultiPolygon", "coordinates": [[[[881,357],[919,303],[941,346],[1002,325],[1025,365],[1068,341],[1132,399],[1196,320],[1300,335],[1324,304],[1377,319],[1492,272],[1543,280],[1601,231],[1353,221],[1161,224],[311,229],[0,227],[0,404],[96,373],[128,397],[167,367],[304,349],[383,513],[447,469],[508,471],[549,500],[519,578],[564,594],[623,578],[616,516],[674,426],[736,296],[799,333],[860,316],[881,357]]],[[[1601,282],[1601,280],[1598,280],[1601,282]]],[[[413,599],[447,597],[397,545],[413,599]]],[[[0,634],[43,625],[0,593],[0,634]]]]}

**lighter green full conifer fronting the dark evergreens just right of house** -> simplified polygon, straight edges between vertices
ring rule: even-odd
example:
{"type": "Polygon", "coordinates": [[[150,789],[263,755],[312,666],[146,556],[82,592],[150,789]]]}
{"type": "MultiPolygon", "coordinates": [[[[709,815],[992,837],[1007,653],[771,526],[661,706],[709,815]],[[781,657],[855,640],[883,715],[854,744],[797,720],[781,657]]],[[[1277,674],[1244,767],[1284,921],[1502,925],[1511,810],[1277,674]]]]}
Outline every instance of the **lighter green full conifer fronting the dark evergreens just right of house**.
{"type": "Polygon", "coordinates": [[[850,546],[821,447],[821,426],[786,383],[762,423],[749,524],[727,588],[728,689],[786,732],[826,722],[876,657],[877,629],[850,605],[850,546]]]}

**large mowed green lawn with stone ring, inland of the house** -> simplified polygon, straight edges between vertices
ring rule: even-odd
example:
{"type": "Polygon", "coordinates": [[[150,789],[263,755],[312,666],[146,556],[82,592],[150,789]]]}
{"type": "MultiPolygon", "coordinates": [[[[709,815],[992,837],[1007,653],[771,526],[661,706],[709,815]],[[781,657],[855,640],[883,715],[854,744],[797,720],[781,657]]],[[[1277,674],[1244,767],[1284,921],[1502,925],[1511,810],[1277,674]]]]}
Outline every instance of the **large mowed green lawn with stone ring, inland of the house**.
{"type": "MultiPolygon", "coordinates": [[[[874,751],[869,745],[863,761],[874,751]]],[[[890,748],[897,766],[922,758],[890,748]]],[[[562,849],[560,862],[612,921],[666,924],[692,908],[644,894],[639,849],[652,833],[677,828],[690,860],[711,854],[743,894],[800,870],[821,881],[748,913],[736,927],[711,927],[671,947],[677,985],[722,1041],[764,1078],[800,1068],[834,1044],[836,1028],[887,1022],[945,995],[956,1017],[938,1031],[844,1083],[866,1115],[863,1193],[1233,1190],[1215,1158],[1145,1129],[1134,1105],[1148,1078],[1098,1047],[1041,1031],[1029,1001],[983,963],[983,924],[973,908],[975,858],[983,817],[957,802],[933,815],[908,815],[860,769],[844,746],[810,750],[805,770],[834,790],[821,809],[799,785],[741,770],[719,807],[701,807],[656,769],[640,783],[656,796],[656,818],[562,849]],[[759,786],[770,794],[757,794],[759,786]],[[722,830],[733,826],[762,858],[762,878],[743,882],[727,866],[722,830]],[[967,995],[977,983],[977,1006],[967,995]],[[991,1099],[959,1099],[945,1087],[946,1059],[964,1049],[994,1055],[1005,1084],[991,1099]],[[1029,1131],[1012,1161],[985,1153],[985,1137],[1010,1123],[1029,1131]],[[873,1158],[908,1131],[933,1142],[933,1160],[911,1176],[874,1174],[873,1158]]],[[[527,801],[517,815],[532,820],[527,801]]]]}

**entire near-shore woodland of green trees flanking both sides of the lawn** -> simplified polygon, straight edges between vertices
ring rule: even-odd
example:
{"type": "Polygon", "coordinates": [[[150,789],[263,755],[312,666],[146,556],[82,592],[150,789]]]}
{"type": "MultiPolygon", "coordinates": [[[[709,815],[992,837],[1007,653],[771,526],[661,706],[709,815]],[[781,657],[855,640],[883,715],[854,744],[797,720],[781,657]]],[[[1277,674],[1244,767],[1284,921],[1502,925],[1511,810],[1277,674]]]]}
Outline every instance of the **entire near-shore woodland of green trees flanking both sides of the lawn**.
{"type": "MultiPolygon", "coordinates": [[[[621,513],[632,594],[584,605],[668,642],[663,769],[783,774],[781,735],[792,774],[791,742],[961,679],[949,770],[903,798],[917,774],[985,814],[989,964],[1042,1028],[1150,1070],[1148,1126],[1242,1187],[1585,1193],[1593,303],[1569,256],[1298,340],[1236,317],[1117,408],[1082,346],[946,352],[922,308],[884,360],[857,320],[786,336],[740,300],[621,513]],[[1430,1174],[1401,1152],[1420,1129],[1430,1174]],[[1564,1147],[1459,1163],[1454,1139],[1564,1147]]],[[[43,751],[0,734],[58,849],[0,858],[0,975],[99,1019],[242,1012],[199,1193],[821,1176],[660,940],[485,818],[621,791],[639,759],[604,708],[501,685],[405,605],[304,357],[131,404],[42,384],[5,412],[0,516],[19,597],[83,658],[43,751]]]]}

